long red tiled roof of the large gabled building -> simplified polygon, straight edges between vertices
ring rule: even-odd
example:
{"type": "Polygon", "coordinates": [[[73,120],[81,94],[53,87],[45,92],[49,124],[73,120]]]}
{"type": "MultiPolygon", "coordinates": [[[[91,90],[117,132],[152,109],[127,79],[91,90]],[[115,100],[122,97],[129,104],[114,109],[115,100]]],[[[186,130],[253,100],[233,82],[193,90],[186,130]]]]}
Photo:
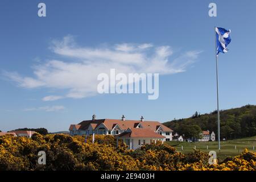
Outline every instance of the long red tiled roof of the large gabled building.
{"type": "MultiPolygon", "coordinates": [[[[107,127],[107,129],[112,130],[114,125],[118,125],[122,130],[127,130],[128,128],[134,128],[141,123],[142,127],[144,129],[151,129],[156,131],[159,126],[163,128],[164,131],[172,131],[170,128],[164,126],[162,123],[158,121],[138,121],[138,120],[119,120],[119,119],[95,119],[95,120],[87,120],[82,121],[79,123],[81,125],[79,127],[80,130],[87,130],[88,127],[91,125],[93,129],[96,129],[101,123],[104,123],[104,125],[107,127]]],[[[69,130],[71,130],[72,126],[69,127],[69,130]]]]}

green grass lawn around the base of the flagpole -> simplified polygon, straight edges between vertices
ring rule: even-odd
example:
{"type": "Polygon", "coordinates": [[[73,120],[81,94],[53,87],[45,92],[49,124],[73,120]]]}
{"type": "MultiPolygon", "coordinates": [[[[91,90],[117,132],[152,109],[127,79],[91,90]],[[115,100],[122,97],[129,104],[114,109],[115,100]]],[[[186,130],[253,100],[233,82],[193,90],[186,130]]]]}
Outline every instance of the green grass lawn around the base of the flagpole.
{"type": "MultiPolygon", "coordinates": [[[[193,148],[196,146],[196,150],[209,152],[209,151],[216,151],[217,158],[225,159],[228,156],[236,156],[241,154],[241,152],[247,148],[249,151],[253,151],[253,146],[256,149],[256,136],[249,137],[249,138],[241,138],[236,140],[228,140],[228,141],[221,141],[221,151],[218,151],[218,142],[175,142],[170,141],[166,142],[170,144],[170,146],[174,146],[177,151],[188,153],[192,152],[193,148]],[[177,145],[177,146],[176,146],[177,145]],[[183,151],[181,151],[181,146],[183,146],[183,151]],[[207,150],[208,146],[208,150],[207,150]],[[235,149],[237,146],[237,149],[235,149]]],[[[256,150],[254,150],[256,151],[256,150]]]]}

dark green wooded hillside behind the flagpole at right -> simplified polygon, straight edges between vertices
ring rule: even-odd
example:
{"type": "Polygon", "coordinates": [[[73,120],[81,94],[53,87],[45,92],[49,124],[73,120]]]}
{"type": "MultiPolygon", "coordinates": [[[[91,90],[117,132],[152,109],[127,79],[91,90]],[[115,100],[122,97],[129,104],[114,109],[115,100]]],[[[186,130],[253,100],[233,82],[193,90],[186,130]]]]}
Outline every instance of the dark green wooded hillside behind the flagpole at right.
{"type": "MultiPolygon", "coordinates": [[[[209,114],[196,112],[190,118],[174,119],[163,123],[178,134],[185,137],[196,137],[197,130],[214,131],[217,137],[217,111],[209,114]]],[[[220,111],[221,139],[236,139],[253,137],[256,135],[256,106],[246,105],[240,108],[220,111]]],[[[197,138],[197,137],[196,137],[197,138]]]]}

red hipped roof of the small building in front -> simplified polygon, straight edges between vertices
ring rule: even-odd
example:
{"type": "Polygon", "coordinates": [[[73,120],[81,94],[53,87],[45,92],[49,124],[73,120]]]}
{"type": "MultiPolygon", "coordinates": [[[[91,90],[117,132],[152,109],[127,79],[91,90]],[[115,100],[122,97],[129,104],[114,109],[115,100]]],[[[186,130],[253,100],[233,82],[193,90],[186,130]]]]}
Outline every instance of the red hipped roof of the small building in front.
{"type": "Polygon", "coordinates": [[[132,128],[127,129],[127,131],[119,134],[116,138],[165,138],[163,135],[155,133],[151,129],[143,129],[143,128],[132,128]]]}

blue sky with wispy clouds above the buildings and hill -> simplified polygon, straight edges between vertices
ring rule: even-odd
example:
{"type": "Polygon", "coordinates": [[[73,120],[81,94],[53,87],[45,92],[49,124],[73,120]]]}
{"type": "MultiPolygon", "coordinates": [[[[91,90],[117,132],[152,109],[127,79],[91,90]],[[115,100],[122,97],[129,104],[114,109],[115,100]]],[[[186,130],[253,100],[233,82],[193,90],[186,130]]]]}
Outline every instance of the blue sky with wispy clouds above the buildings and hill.
{"type": "MultiPolygon", "coordinates": [[[[220,109],[256,104],[255,1],[45,0],[47,17],[39,18],[40,2],[0,2],[2,131],[68,130],[93,114],[166,122],[195,111],[209,113],[216,109],[214,26],[232,30],[230,51],[219,57],[220,109]],[[216,18],[208,16],[210,2],[217,4],[216,18]],[[124,45],[150,45],[137,55],[148,60],[138,71],[149,68],[161,48],[167,56],[159,59],[176,61],[160,68],[158,100],[147,94],[91,94],[97,84],[94,68],[114,68],[106,59],[113,61],[116,48],[124,45]],[[103,56],[95,59],[91,53],[103,56]],[[92,64],[81,62],[84,58],[92,64]]],[[[130,71],[129,61],[118,68],[130,71]]]]}

